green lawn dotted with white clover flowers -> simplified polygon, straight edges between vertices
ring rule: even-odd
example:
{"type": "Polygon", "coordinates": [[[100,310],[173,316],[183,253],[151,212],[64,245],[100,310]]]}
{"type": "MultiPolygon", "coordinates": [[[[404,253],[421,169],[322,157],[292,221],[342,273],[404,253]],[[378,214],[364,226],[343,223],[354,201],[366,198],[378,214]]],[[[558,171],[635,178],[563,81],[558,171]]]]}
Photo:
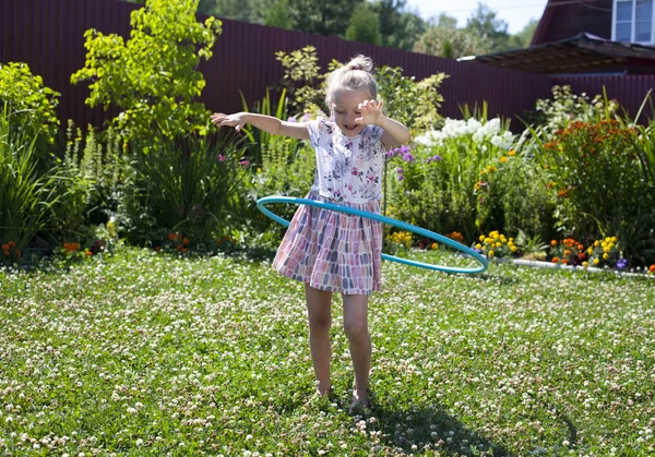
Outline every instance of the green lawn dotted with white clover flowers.
{"type": "Polygon", "coordinates": [[[126,250],[0,274],[0,454],[655,453],[655,281],[509,264],[383,276],[374,406],[353,417],[341,298],[337,399],[311,401],[303,291],[270,262],[126,250]]]}

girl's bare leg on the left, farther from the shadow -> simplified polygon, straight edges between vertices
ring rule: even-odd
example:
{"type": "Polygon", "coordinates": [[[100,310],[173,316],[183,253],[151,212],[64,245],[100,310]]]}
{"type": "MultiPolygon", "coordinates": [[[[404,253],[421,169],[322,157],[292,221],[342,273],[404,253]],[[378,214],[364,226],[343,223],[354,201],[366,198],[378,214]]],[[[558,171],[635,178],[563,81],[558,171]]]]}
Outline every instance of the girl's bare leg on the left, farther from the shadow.
{"type": "Polygon", "coordinates": [[[332,292],[305,284],[309,317],[309,350],[318,381],[318,392],[330,390],[330,326],[332,325],[332,292]]]}

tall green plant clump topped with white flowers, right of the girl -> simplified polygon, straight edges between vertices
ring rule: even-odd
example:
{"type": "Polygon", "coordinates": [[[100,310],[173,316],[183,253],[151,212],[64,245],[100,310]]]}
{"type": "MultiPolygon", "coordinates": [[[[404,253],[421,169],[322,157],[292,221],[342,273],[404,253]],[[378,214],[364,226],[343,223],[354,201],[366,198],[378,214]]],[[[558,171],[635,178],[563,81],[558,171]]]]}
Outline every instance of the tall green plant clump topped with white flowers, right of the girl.
{"type": "MultiPolygon", "coordinates": [[[[445,119],[441,130],[416,137],[413,149],[389,153],[390,193],[397,217],[437,232],[474,238],[496,204],[489,189],[508,160],[514,135],[500,119],[445,119]]],[[[514,153],[513,153],[514,154],[514,153]]]]}

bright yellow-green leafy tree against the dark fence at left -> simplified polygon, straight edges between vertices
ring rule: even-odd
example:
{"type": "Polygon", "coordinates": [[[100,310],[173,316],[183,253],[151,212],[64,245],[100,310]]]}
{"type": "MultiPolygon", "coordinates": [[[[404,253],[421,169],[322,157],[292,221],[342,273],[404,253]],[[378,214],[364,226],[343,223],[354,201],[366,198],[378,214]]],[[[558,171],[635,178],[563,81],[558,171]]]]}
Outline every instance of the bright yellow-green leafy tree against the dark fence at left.
{"type": "Polygon", "coordinates": [[[209,112],[194,98],[205,81],[196,71],[200,59],[210,59],[221,21],[195,21],[199,0],[147,0],[133,11],[130,39],[95,29],[85,32],[85,67],[71,76],[88,81],[86,104],[122,112],[112,121],[129,139],[175,139],[191,131],[204,134],[209,112]]]}

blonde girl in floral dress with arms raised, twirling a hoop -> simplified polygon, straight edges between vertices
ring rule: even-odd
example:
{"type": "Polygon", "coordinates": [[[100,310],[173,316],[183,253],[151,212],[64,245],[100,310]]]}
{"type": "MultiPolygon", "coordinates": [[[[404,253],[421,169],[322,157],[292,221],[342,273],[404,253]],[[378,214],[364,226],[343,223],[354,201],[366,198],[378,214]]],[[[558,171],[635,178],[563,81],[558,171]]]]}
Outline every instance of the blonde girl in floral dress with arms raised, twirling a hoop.
{"type": "MultiPolygon", "coordinates": [[[[214,113],[212,122],[237,131],[248,122],[271,134],[309,140],[317,175],[307,199],[380,213],[385,149],[408,143],[409,131],[383,115],[372,69],[369,58],[357,56],[330,74],[330,120],[284,122],[239,112],[214,113]]],[[[309,347],[321,396],[330,392],[332,293],[343,294],[344,330],[355,370],[350,408],[370,406],[368,297],[380,290],[381,249],[380,223],[301,205],[273,262],[278,273],[305,282],[309,347]]]]}

